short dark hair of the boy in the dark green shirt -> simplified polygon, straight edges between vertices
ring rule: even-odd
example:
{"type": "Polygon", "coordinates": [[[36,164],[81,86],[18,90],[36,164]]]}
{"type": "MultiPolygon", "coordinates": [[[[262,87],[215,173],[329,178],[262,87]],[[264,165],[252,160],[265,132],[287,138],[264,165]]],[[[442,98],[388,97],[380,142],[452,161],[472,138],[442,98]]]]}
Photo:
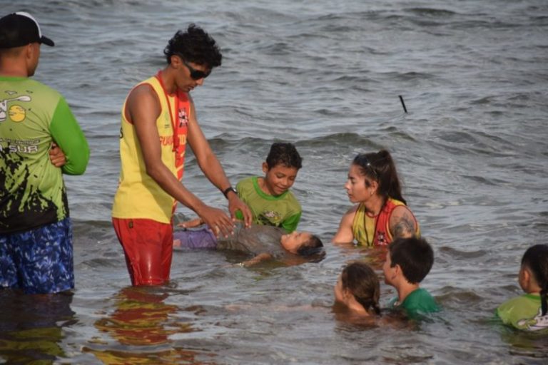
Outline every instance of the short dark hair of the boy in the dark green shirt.
{"type": "Polygon", "coordinates": [[[405,279],[411,284],[422,282],[432,269],[434,252],[424,238],[397,238],[388,245],[391,267],[400,265],[405,279]]]}

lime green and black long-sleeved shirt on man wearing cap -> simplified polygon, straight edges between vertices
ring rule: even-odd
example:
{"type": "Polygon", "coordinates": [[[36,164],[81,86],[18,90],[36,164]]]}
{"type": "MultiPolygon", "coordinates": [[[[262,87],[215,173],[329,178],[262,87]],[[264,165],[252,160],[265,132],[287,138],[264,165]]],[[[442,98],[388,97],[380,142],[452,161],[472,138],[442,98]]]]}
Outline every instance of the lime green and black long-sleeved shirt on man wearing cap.
{"type": "Polygon", "coordinates": [[[61,173],[81,175],[89,148],[63,96],[31,78],[0,76],[0,233],[68,217],[61,173]],[[55,142],[66,155],[56,168],[55,142]]]}

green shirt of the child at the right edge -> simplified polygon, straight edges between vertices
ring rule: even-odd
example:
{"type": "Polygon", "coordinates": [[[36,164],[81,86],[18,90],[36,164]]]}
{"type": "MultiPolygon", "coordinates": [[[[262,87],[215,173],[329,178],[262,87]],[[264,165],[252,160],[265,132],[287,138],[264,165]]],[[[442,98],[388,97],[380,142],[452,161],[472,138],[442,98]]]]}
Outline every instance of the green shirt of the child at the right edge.
{"type": "Polygon", "coordinates": [[[504,324],[525,331],[548,331],[548,314],[542,316],[540,296],[523,294],[500,304],[496,311],[504,324]]]}

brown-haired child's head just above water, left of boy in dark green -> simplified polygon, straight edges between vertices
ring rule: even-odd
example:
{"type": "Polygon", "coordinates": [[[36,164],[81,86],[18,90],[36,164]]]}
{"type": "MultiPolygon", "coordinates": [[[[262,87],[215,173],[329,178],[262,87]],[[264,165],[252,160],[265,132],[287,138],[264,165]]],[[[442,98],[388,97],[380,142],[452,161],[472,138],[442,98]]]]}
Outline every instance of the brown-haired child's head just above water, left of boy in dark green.
{"type": "Polygon", "coordinates": [[[364,317],[380,314],[380,284],[377,274],[365,262],[348,264],[335,285],[335,302],[364,317]]]}

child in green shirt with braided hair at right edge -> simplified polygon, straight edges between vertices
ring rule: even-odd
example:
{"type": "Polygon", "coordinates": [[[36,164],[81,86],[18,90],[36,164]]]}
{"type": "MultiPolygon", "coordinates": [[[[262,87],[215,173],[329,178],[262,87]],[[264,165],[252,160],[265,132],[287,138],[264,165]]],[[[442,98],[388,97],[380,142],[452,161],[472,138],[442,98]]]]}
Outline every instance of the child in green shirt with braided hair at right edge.
{"type": "Polygon", "coordinates": [[[548,245],[525,251],[518,282],[525,294],[501,304],[497,316],[517,329],[548,332],[548,245]]]}

